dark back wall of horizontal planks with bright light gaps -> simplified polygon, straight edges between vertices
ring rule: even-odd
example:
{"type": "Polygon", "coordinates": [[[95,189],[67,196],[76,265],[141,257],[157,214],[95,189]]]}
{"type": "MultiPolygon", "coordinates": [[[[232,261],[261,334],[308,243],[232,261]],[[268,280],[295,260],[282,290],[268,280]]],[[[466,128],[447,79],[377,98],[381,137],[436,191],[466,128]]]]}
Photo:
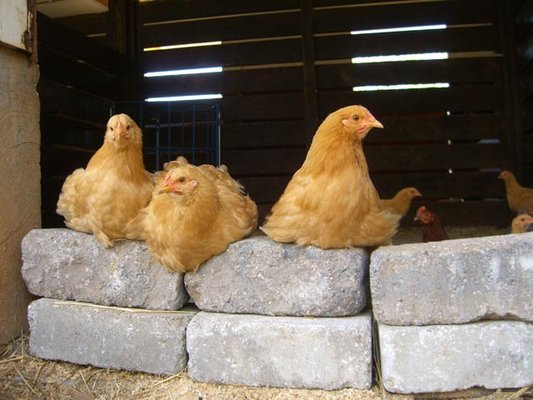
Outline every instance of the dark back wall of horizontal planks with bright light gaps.
{"type": "MultiPolygon", "coordinates": [[[[141,71],[222,66],[219,74],[143,79],[145,97],[221,93],[222,162],[261,218],[301,165],[318,123],[363,104],[380,119],[365,153],[382,197],[405,186],[449,225],[509,223],[498,0],[199,0],[143,3],[141,71]],[[350,31],[447,24],[447,29],[350,31]],[[143,48],[221,41],[219,45],[143,48]],[[352,64],[354,56],[449,52],[445,60],[352,64]],[[353,86],[448,82],[447,89],[354,92],[353,86]],[[307,132],[306,132],[307,127],[307,132]],[[309,132],[312,129],[312,132],[309,132]]],[[[512,134],[509,133],[509,134],[512,134]]],[[[412,213],[405,223],[412,220],[412,213]]]]}

